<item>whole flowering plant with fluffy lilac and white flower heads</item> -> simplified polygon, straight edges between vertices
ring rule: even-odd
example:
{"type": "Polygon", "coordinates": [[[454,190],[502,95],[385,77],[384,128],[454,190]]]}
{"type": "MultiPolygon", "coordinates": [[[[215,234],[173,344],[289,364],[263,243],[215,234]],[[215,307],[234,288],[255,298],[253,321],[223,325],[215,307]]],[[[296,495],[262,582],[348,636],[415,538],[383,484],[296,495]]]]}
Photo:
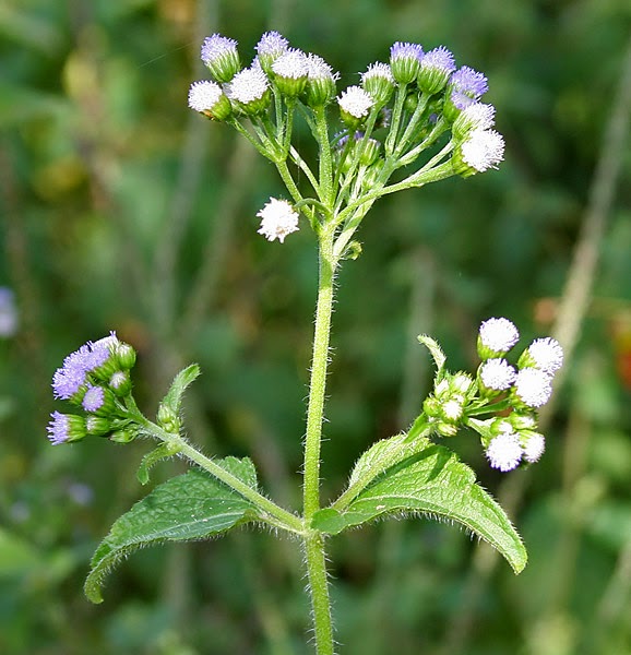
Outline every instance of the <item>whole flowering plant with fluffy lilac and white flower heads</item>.
{"type": "Polygon", "coordinates": [[[360,454],[345,490],[323,507],[320,446],[334,279],[343,261],[361,252],[355,234],[383,195],[497,167],[503,140],[491,129],[493,107],[480,102],[487,91],[485,75],[466,66],[456,69],[442,46],[425,52],[417,44],[396,43],[388,63],[370,64],[360,84],[340,94],[337,75],[322,58],[290,48],[276,32],[261,37],[248,68],[241,68],[237,43],[217,34],[204,40],[201,57],[212,80],[191,85],[190,107],[248,139],[275,165],[289,195],[271,198],[259,212],[259,234],[284,243],[307,221],[318,240],[303,507],[295,513],[267,498],[251,460],[207,457],[183,437],[182,396],[199,374],[197,365],[176,376],[155,420],[146,418],[132,394],[134,349],[115,333],[69,355],[55,373],[56,397],[75,410],[52,414],[49,439],[53,444],[88,436],[119,443],[152,439],[157,445],[138,472],[142,484],[163,458],[178,455],[194,464],[116,521],[92,560],[85,584],[91,600],[102,600],[106,573],[138,548],[211,538],[246,523],[271,526],[294,536],[303,549],[316,647],[321,655],[332,654],[325,546],[349,527],[378,517],[447,517],[490,543],[515,572],[524,568],[525,548],[503,510],[476,484],[474,472],[432,438],[452,438],[469,428],[478,433],[490,466],[508,472],[536,462],[545,448],[536,412],[550,397],[563,354],[556,341],[539,338],[511,364],[517,329],[508,319],[492,318],[480,325],[481,362],[472,376],[450,371],[438,343],[420,335],[436,377],[431,393],[419,401],[417,418],[405,432],[360,454]],[[317,142],[317,167],[293,143],[298,117],[317,142]],[[341,126],[333,134],[332,120],[341,126]],[[308,182],[307,190],[296,172],[308,182]]]}

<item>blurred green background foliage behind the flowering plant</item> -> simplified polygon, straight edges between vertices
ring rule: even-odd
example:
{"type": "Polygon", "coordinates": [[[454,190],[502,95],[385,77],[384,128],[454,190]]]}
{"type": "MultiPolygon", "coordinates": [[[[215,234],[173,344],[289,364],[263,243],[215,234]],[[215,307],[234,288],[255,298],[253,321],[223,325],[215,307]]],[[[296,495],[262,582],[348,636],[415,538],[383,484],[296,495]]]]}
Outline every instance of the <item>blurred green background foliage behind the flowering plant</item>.
{"type": "MultiPolygon", "coordinates": [[[[300,555],[267,534],[145,550],[90,605],[90,556],[146,493],[134,472],[147,444],[52,448],[45,430],[63,356],[117,330],[139,350],[150,416],[178,368],[200,362],[190,438],[207,453],[251,454],[266,489],[299,507],[314,239],[305,227],[284,246],[255,235],[278,178],[187,107],[204,36],[237,38],[249,61],[274,28],[324,57],[341,88],[395,40],[443,44],[488,75],[507,140],[498,171],[382,200],[362,225],[364,254],[338,278],[325,498],[418,412],[431,370],[416,334],[473,370],[480,320],[507,315],[527,343],[557,334],[563,302],[579,314],[540,464],[502,477],[472,434],[450,441],[507,503],[525,572],[425,520],[338,537],[342,653],[631,654],[629,141],[619,170],[599,178],[612,192],[602,229],[581,241],[630,26],[628,0],[3,0],[0,287],[14,293],[19,324],[4,309],[0,652],[310,652],[300,555]],[[595,274],[579,266],[584,315],[563,296],[580,242],[598,255],[595,274]]],[[[182,469],[163,464],[152,484],[182,469]]]]}

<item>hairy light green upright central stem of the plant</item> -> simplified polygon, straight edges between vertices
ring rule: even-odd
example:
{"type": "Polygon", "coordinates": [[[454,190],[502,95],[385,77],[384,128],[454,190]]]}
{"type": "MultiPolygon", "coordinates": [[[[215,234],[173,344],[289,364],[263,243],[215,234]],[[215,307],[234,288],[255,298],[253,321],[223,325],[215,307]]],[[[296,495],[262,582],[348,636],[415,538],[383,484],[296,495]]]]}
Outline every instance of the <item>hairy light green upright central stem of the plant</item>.
{"type": "Polygon", "coordinates": [[[322,442],[331,314],[333,312],[333,279],[337,263],[333,254],[334,236],[335,228],[332,223],[325,224],[319,235],[318,306],[305,438],[303,504],[307,534],[303,544],[318,655],[333,655],[334,653],[324,536],[310,529],[313,514],[320,509],[320,444],[322,442]]]}

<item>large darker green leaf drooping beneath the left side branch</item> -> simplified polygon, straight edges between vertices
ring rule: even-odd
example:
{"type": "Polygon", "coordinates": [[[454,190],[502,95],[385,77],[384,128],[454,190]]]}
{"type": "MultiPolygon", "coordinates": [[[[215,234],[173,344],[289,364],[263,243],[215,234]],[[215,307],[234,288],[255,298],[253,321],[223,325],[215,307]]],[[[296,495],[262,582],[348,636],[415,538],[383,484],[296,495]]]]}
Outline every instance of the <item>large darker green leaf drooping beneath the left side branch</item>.
{"type": "MultiPolygon", "coordinates": [[[[226,457],[219,464],[248,486],[257,487],[257,472],[250,460],[226,457]]],[[[156,487],[114,523],[92,558],[85,595],[100,603],[107,573],[139,548],[210,538],[257,519],[254,504],[205,471],[193,468],[156,487]]]]}

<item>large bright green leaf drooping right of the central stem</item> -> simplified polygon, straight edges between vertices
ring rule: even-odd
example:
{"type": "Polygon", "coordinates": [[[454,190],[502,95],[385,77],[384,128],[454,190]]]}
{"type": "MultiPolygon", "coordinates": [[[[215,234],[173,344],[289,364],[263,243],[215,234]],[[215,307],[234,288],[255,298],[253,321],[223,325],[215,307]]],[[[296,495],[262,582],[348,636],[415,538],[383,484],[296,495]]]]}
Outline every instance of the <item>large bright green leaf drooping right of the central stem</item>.
{"type": "Polygon", "coordinates": [[[427,439],[422,442],[417,454],[373,478],[346,507],[334,503],[317,512],[311,526],[334,535],[380,516],[412,513],[456,521],[499,550],[520,573],[527,553],[502,508],[455,453],[427,439]]]}

